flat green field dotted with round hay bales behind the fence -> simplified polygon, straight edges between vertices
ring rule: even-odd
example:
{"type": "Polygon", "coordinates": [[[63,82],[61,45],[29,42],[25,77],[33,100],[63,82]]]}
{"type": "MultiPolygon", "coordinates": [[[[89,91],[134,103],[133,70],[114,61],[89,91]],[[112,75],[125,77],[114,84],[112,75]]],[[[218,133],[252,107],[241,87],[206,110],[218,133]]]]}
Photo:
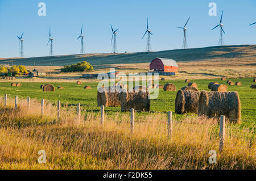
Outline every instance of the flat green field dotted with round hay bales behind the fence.
{"type": "MultiPolygon", "coordinates": [[[[242,104],[242,124],[241,127],[254,127],[255,126],[255,112],[256,112],[256,91],[255,89],[250,89],[250,85],[253,84],[251,78],[238,78],[232,79],[233,82],[241,82],[241,86],[228,86],[228,91],[237,91],[240,95],[242,104]]],[[[164,85],[168,81],[159,81],[159,85],[164,85]]],[[[226,84],[226,81],[220,81],[220,79],[211,80],[191,80],[191,82],[196,82],[198,84],[199,90],[208,90],[209,82],[219,82],[226,84]]],[[[187,86],[184,80],[171,81],[176,85],[176,89],[179,90],[183,86],[187,86]]],[[[40,89],[40,85],[46,83],[30,83],[23,82],[22,87],[11,87],[11,82],[0,82],[0,96],[8,94],[9,98],[14,98],[18,95],[19,99],[26,99],[27,96],[36,99],[46,99],[55,103],[57,100],[61,101],[61,104],[68,104],[69,106],[76,106],[77,103],[81,103],[82,110],[99,112],[100,107],[97,106],[97,82],[86,82],[82,85],[76,85],[76,83],[52,83],[55,87],[63,86],[64,89],[56,89],[54,92],[43,92],[40,89]],[[92,89],[85,90],[83,87],[89,85],[92,89]]],[[[177,91],[163,91],[159,90],[158,99],[151,100],[152,112],[163,112],[167,111],[175,112],[175,97],[177,91]]],[[[115,113],[120,111],[120,107],[106,107],[105,111],[107,113],[115,113]]],[[[139,113],[148,114],[148,113],[139,113]]],[[[184,115],[174,114],[176,119],[181,117],[191,116],[190,113],[184,115]]]]}

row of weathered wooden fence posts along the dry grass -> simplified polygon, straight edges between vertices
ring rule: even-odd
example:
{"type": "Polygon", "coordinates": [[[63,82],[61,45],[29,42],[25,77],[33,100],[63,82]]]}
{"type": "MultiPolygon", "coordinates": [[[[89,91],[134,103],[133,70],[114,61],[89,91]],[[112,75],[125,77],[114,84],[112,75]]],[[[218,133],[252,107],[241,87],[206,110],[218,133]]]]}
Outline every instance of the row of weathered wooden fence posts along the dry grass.
{"type": "MultiPolygon", "coordinates": [[[[7,107],[7,94],[5,94],[5,104],[4,106],[7,107]]],[[[14,108],[18,108],[18,96],[15,96],[14,108]]],[[[30,108],[30,97],[27,97],[27,107],[30,108]]],[[[60,118],[60,109],[61,104],[60,101],[57,101],[57,117],[60,118]]],[[[44,115],[44,99],[41,100],[41,113],[42,116],[44,115]]],[[[77,122],[79,123],[81,120],[81,104],[77,104],[77,122]]],[[[101,106],[101,118],[100,124],[104,126],[105,120],[105,109],[104,106],[101,106]]],[[[172,112],[168,111],[167,113],[167,138],[172,138],[172,125],[173,123],[178,123],[177,121],[172,120],[172,112]]],[[[182,123],[182,122],[181,122],[182,123]]],[[[192,123],[193,124],[193,123],[192,123]]],[[[130,133],[133,134],[135,131],[135,110],[131,108],[130,110],[130,133]]],[[[220,128],[219,128],[219,151],[223,151],[225,148],[225,116],[220,116],[220,128]]]]}

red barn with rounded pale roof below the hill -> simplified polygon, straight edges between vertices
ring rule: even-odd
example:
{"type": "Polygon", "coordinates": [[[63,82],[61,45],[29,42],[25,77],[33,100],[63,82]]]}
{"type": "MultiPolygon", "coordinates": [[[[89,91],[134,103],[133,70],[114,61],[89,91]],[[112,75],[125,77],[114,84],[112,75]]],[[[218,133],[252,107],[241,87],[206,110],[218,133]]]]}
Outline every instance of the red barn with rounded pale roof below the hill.
{"type": "Polygon", "coordinates": [[[150,63],[150,71],[159,75],[175,75],[178,65],[175,60],[168,58],[155,58],[150,63]]]}

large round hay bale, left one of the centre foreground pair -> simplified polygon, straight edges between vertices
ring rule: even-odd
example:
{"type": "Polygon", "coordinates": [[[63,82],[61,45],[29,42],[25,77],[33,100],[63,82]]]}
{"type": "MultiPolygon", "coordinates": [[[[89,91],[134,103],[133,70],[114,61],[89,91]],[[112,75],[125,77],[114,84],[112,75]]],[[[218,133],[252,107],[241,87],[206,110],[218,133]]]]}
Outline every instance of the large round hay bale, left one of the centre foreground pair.
{"type": "Polygon", "coordinates": [[[99,88],[97,95],[98,106],[104,105],[105,107],[117,107],[120,106],[120,96],[121,91],[118,87],[106,87],[99,88]]]}

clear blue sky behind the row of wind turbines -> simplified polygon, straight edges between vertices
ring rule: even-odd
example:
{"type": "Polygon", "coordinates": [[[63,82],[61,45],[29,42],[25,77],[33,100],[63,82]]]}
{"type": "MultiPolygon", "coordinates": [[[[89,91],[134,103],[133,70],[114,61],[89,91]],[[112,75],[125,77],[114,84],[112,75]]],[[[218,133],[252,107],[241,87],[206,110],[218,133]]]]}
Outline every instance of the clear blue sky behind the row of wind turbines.
{"type": "Polygon", "coordinates": [[[152,31],[152,51],[180,49],[183,27],[187,24],[188,48],[218,45],[218,28],[224,10],[224,44],[255,44],[255,0],[0,0],[0,58],[18,57],[19,40],[24,32],[24,57],[49,55],[49,27],[53,37],[54,55],[79,54],[81,25],[84,24],[85,53],[112,51],[110,23],[117,31],[117,50],[143,52],[146,50],[146,19],[152,31]],[[39,16],[38,4],[46,3],[46,16],[39,16]],[[216,3],[217,16],[209,16],[210,2],[216,3]]]}

